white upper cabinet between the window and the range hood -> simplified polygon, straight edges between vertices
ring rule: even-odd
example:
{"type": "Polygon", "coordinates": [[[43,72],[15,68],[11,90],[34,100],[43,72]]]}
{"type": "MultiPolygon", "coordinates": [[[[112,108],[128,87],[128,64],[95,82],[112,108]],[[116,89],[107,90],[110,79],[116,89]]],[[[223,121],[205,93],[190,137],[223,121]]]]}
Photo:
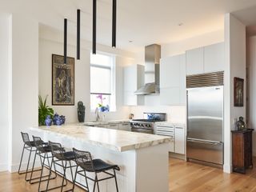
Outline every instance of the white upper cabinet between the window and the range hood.
{"type": "Polygon", "coordinates": [[[123,102],[125,106],[144,105],[144,97],[134,91],[144,85],[144,66],[131,65],[124,68],[123,102]]]}

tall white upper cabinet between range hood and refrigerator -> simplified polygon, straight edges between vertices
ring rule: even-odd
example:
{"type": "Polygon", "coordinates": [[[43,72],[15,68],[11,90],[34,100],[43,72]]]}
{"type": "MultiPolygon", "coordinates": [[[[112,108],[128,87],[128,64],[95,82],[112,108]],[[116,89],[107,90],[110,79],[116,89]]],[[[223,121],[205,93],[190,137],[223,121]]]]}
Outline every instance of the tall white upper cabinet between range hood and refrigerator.
{"type": "Polygon", "coordinates": [[[170,106],[186,104],[185,54],[160,60],[160,101],[170,106]]]}

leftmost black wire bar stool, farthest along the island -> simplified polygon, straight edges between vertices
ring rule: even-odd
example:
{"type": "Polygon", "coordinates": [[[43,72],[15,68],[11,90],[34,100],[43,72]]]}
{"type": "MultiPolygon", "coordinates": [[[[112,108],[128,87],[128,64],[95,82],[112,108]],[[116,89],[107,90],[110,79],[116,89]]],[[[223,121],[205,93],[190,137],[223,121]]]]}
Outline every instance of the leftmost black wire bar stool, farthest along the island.
{"type": "MultiPolygon", "coordinates": [[[[34,141],[30,141],[29,134],[23,133],[23,132],[21,132],[21,134],[22,134],[22,140],[23,140],[24,144],[23,144],[23,149],[22,149],[22,158],[21,158],[21,160],[19,162],[18,174],[26,174],[25,175],[26,182],[30,181],[30,183],[33,184],[35,182],[32,182],[32,181],[35,180],[35,179],[38,179],[39,177],[38,178],[32,178],[32,174],[34,173],[34,171],[40,171],[42,169],[34,170],[34,162],[35,162],[36,151],[37,151],[36,146],[34,144],[34,141]],[[24,154],[25,150],[28,150],[30,152],[30,154],[29,154],[29,158],[28,158],[28,161],[27,161],[26,170],[25,171],[21,171],[22,159],[23,159],[23,154],[24,154]],[[30,157],[31,157],[32,152],[35,152],[34,153],[34,162],[33,162],[32,170],[29,170],[30,157]],[[30,178],[27,178],[27,174],[28,173],[30,173],[30,178]]],[[[45,177],[45,176],[43,176],[43,177],[45,177]]],[[[48,175],[47,175],[47,177],[48,177],[48,175]]]]}

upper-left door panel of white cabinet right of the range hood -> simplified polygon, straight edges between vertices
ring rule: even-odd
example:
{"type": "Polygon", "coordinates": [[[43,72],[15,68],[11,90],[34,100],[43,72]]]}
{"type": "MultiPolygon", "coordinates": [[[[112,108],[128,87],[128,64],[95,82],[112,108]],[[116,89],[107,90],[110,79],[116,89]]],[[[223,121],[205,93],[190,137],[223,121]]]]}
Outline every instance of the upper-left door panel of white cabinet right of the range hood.
{"type": "Polygon", "coordinates": [[[180,55],[160,61],[160,87],[177,87],[180,82],[180,55]]]}

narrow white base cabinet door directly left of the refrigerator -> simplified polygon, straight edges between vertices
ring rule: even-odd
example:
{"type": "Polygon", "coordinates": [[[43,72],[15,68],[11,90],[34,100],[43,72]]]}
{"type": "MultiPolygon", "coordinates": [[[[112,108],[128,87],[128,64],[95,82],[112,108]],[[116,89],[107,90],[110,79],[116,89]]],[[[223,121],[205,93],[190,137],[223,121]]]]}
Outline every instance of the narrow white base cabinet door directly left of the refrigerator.
{"type": "Polygon", "coordinates": [[[177,154],[185,154],[185,134],[183,126],[175,126],[174,151],[177,154]]]}

